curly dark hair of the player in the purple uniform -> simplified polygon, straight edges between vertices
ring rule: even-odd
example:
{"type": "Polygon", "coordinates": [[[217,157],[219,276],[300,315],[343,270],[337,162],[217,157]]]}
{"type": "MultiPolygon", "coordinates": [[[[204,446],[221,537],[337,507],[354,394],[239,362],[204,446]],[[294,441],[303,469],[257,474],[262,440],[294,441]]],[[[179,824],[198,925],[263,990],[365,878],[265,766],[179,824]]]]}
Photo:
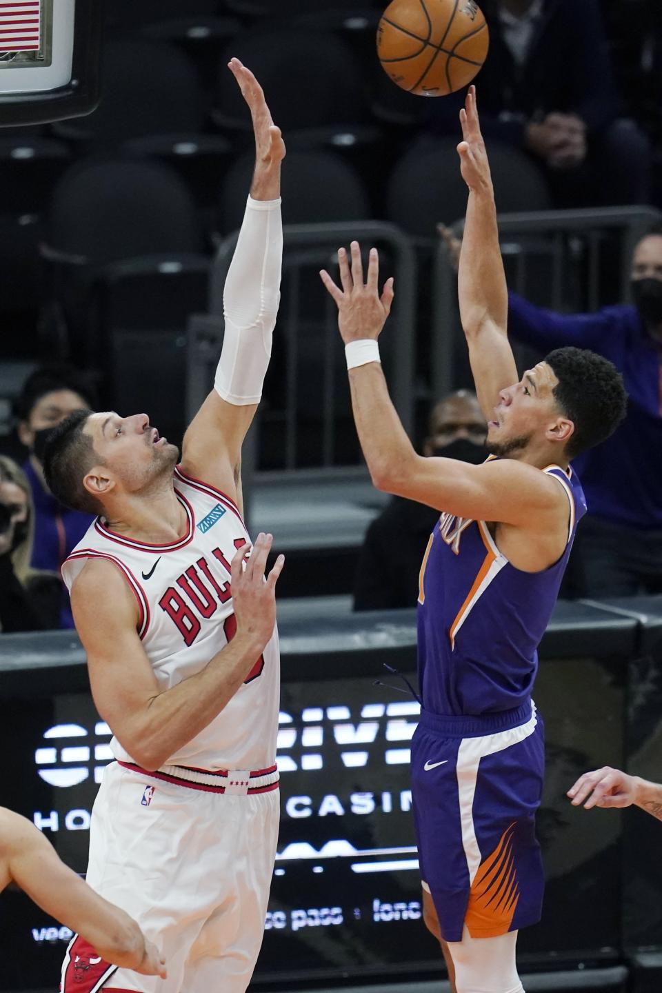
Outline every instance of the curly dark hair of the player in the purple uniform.
{"type": "Polygon", "coordinates": [[[575,425],[566,446],[568,458],[575,459],[613,434],[624,418],[623,377],[613,362],[588,349],[556,349],[545,361],[559,380],[554,397],[575,425]]]}

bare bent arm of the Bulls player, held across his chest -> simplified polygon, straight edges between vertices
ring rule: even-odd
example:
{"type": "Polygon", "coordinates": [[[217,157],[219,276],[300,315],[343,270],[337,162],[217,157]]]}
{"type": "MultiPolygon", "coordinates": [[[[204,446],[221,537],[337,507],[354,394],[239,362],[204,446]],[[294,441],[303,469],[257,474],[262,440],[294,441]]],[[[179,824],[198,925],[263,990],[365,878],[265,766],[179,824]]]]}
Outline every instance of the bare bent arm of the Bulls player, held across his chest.
{"type": "Polygon", "coordinates": [[[73,619],[87,653],[96,709],[144,769],[159,769],[195,738],[223,710],[262,654],[276,623],[275,587],[284,563],[279,555],[264,581],[271,545],[270,534],[259,534],[245,570],[248,545],[232,559],[234,638],[199,672],[167,689],[159,686],[138,637],[136,601],[119,570],[91,559],[73,584],[73,619]]]}

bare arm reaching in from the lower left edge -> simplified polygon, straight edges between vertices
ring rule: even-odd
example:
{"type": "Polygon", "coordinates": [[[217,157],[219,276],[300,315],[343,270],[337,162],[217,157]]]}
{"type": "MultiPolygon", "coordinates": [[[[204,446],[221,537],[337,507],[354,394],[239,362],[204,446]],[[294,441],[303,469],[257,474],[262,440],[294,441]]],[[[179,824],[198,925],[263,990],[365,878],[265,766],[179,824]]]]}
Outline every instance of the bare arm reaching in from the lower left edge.
{"type": "Polygon", "coordinates": [[[84,937],[107,962],[166,978],[165,959],[138,924],[67,868],[34,824],[2,808],[0,850],[3,881],[16,883],[43,911],[84,937]]]}

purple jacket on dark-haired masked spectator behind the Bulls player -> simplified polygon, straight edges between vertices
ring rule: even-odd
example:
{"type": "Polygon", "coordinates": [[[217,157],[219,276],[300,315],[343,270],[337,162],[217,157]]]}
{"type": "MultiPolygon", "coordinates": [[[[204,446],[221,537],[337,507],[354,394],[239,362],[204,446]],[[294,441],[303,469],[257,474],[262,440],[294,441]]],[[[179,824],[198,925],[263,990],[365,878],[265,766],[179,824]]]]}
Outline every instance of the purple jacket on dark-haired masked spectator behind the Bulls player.
{"type": "MultiPolygon", "coordinates": [[[[44,489],[30,459],[23,464],[35,504],[35,543],[32,552],[33,569],[48,569],[60,575],[60,567],[72,548],[91,524],[94,517],[79,510],[69,510],[44,489]]],[[[73,628],[69,600],[63,586],[61,627],[73,628]]]]}

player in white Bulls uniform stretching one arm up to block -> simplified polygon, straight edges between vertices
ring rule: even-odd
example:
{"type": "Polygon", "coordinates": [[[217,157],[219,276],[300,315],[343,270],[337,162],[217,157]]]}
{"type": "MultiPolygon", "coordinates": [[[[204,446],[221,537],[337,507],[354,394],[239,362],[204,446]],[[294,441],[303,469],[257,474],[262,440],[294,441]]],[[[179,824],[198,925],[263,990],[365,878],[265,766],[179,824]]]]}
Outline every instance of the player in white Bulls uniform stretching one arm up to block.
{"type": "Polygon", "coordinates": [[[253,74],[236,59],[229,68],[256,165],[214,389],[181,463],[146,414],[114,412],[72,414],[45,457],[52,492],[99,514],[63,567],[116,759],[92,811],[87,881],[168,961],[166,980],[137,976],[76,936],[63,993],[243,993],[262,941],[279,821],[283,558],[265,581],[272,539],[260,534],[247,559],[240,465],[279,302],[285,145],[253,74]],[[81,978],[85,957],[96,964],[81,978]]]}

